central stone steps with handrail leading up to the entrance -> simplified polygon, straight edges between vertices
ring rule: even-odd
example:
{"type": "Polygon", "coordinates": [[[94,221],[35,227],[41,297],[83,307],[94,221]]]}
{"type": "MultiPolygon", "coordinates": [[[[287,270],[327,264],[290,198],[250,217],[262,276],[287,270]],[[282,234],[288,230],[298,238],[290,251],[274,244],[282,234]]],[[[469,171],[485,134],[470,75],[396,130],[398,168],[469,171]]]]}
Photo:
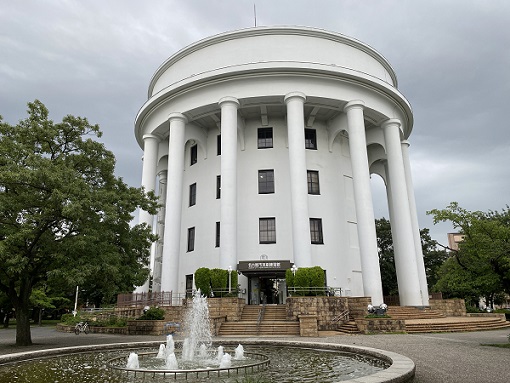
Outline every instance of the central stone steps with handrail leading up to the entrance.
{"type": "Polygon", "coordinates": [[[219,329],[220,336],[265,336],[294,335],[299,336],[299,322],[287,320],[287,307],[266,305],[264,317],[257,324],[262,306],[246,305],[241,319],[237,322],[223,322],[219,329]]]}

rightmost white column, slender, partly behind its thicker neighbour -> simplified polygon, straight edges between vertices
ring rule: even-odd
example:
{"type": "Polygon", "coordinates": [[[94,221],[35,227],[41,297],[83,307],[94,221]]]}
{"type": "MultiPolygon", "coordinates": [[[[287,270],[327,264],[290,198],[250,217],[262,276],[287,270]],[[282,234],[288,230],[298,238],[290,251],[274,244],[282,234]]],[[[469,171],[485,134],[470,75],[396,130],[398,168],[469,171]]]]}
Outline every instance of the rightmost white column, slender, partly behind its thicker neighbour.
{"type": "Polygon", "coordinates": [[[427,286],[427,275],[425,274],[425,263],[423,260],[423,249],[421,247],[420,226],[418,224],[418,213],[416,211],[416,200],[414,198],[413,178],[411,175],[411,161],[409,161],[409,142],[402,141],[402,157],[404,160],[404,171],[406,175],[407,195],[409,197],[409,210],[411,212],[411,224],[413,225],[414,247],[416,250],[416,266],[418,267],[418,278],[420,280],[421,300],[423,306],[429,305],[429,289],[427,286]]]}

